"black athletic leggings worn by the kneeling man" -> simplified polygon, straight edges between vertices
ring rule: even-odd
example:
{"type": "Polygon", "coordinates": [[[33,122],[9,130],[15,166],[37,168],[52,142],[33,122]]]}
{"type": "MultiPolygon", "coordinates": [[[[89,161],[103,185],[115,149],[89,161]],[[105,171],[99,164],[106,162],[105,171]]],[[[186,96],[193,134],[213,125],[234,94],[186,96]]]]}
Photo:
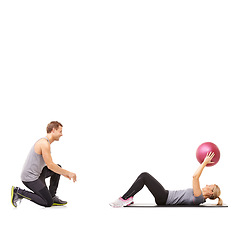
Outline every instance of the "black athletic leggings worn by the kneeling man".
{"type": "MultiPolygon", "coordinates": [[[[60,165],[58,165],[61,167],[60,165]]],[[[28,187],[30,191],[26,191],[23,189],[18,189],[18,194],[26,198],[38,205],[44,207],[51,207],[53,204],[53,197],[56,194],[58,183],[59,183],[60,175],[51,171],[47,167],[44,167],[40,177],[32,182],[23,182],[23,184],[28,187]],[[49,189],[46,186],[45,178],[50,178],[50,186],[49,189]]]]}

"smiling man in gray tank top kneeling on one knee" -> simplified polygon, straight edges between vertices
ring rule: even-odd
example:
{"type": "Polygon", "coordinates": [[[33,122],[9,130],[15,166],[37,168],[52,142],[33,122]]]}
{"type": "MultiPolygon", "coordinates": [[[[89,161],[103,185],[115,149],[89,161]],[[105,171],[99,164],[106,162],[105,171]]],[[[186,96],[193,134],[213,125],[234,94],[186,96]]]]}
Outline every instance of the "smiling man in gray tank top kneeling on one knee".
{"type": "Polygon", "coordinates": [[[62,127],[62,124],[57,121],[50,122],[47,126],[47,136],[38,140],[30,150],[22,170],[21,180],[32,192],[12,187],[11,201],[14,207],[17,207],[17,202],[23,198],[44,207],[67,204],[55,195],[60,175],[75,182],[76,174],[55,164],[50,151],[50,144],[59,141],[62,136],[62,127]],[[45,183],[47,177],[50,177],[49,189],[45,183]]]}

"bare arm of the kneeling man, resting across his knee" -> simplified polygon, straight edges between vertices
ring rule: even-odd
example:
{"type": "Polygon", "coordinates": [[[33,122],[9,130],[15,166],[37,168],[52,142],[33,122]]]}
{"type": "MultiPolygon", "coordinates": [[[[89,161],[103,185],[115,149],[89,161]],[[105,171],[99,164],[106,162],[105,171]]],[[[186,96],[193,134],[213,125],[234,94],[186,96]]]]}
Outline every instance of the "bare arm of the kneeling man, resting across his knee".
{"type": "Polygon", "coordinates": [[[41,144],[42,149],[42,156],[43,159],[47,165],[47,167],[52,170],[55,173],[58,173],[60,175],[63,175],[64,177],[69,178],[70,180],[73,179],[73,182],[76,181],[76,174],[69,172],[61,167],[59,167],[57,164],[55,164],[52,160],[51,152],[50,152],[50,144],[48,142],[42,142],[41,144]]]}

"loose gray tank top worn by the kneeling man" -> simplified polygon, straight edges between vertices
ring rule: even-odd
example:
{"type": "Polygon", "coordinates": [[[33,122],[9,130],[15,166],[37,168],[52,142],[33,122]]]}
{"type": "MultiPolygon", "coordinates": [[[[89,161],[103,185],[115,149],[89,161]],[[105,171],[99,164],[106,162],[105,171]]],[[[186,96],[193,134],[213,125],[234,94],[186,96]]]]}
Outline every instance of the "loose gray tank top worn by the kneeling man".
{"type": "MultiPolygon", "coordinates": [[[[47,137],[44,137],[44,139],[49,142],[47,137]]],[[[21,180],[23,182],[32,182],[37,180],[42,172],[42,169],[46,166],[42,155],[35,152],[35,144],[31,148],[22,169],[21,180]]]]}

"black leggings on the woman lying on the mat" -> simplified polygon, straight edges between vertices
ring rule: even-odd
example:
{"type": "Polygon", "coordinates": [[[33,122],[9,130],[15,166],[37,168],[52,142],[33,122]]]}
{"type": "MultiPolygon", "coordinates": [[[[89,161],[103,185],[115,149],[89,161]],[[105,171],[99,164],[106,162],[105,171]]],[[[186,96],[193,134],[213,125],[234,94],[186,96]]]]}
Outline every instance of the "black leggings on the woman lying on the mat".
{"type": "Polygon", "coordinates": [[[149,173],[141,173],[137,180],[133,183],[130,189],[122,196],[123,199],[128,199],[133,197],[138,193],[144,185],[147,186],[149,191],[155,198],[157,205],[165,205],[168,197],[168,190],[165,190],[164,187],[149,173]]]}

